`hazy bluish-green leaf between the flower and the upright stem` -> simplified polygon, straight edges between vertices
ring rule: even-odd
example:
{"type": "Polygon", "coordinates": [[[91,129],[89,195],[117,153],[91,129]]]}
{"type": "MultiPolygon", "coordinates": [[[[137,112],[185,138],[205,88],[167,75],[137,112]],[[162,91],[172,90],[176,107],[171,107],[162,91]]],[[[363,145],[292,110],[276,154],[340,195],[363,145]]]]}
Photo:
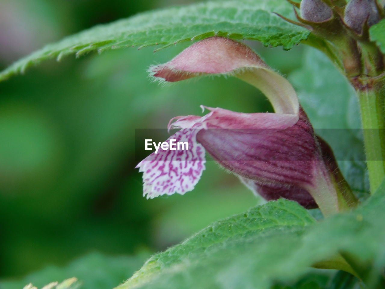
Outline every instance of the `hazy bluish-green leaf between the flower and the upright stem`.
{"type": "Polygon", "coordinates": [[[355,91],[330,60],[313,48],[305,50],[303,66],[289,78],[316,132],[333,149],[346,180],[358,195],[364,195],[369,183],[355,91]]]}

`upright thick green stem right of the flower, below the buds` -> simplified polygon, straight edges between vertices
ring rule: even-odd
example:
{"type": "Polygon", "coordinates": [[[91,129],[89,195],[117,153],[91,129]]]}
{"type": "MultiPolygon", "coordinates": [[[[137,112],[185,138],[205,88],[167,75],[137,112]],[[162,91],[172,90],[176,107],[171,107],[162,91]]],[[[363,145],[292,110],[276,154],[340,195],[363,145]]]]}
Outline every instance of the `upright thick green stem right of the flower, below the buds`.
{"type": "Polygon", "coordinates": [[[370,191],[374,193],[385,177],[385,86],[383,81],[360,80],[355,87],[360,101],[363,137],[370,191]]]}

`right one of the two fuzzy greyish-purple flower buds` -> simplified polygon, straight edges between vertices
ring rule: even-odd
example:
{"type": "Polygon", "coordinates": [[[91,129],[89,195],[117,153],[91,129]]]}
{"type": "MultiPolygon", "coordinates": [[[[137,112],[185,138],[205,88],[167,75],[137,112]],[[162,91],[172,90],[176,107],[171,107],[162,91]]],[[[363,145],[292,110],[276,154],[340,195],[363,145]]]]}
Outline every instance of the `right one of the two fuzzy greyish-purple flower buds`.
{"type": "Polygon", "coordinates": [[[380,21],[376,0],[351,0],[345,8],[345,24],[357,34],[363,34],[365,23],[368,27],[380,21]]]}

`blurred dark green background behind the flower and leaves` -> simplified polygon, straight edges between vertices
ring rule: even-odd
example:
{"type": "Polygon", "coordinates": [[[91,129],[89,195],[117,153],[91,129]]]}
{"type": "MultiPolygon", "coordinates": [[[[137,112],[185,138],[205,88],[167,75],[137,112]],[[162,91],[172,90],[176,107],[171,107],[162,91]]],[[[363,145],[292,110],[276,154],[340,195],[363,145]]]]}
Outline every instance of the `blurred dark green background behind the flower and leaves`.
{"type": "MultiPolygon", "coordinates": [[[[189,2],[1,0],[0,69],[93,25],[189,2]]],[[[0,288],[20,288],[44,268],[47,281],[35,285],[60,279],[55,268],[66,266],[73,270],[63,278],[81,278],[85,265],[78,258],[110,270],[118,264],[113,287],[151,252],[261,202],[213,161],[194,191],[142,197],[134,167],[146,155],[134,155],[135,129],[166,128],[174,116],[200,114],[201,104],[245,113],[271,109],[256,89],[234,78],[151,83],[146,69],[189,44],[68,57],[0,83],[0,288]]],[[[300,65],[301,47],[250,45],[283,74],[300,65]]]]}

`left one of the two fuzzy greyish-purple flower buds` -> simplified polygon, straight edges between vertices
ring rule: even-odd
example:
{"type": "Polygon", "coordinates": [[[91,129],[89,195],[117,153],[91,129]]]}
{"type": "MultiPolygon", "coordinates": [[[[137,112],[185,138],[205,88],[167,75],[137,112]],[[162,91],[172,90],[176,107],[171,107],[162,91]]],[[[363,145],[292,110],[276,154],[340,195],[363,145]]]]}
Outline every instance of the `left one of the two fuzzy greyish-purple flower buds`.
{"type": "Polygon", "coordinates": [[[322,0],[302,0],[301,16],[311,22],[324,22],[333,16],[331,8],[322,0]]]}

